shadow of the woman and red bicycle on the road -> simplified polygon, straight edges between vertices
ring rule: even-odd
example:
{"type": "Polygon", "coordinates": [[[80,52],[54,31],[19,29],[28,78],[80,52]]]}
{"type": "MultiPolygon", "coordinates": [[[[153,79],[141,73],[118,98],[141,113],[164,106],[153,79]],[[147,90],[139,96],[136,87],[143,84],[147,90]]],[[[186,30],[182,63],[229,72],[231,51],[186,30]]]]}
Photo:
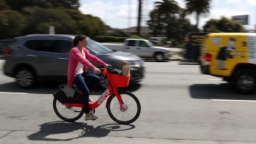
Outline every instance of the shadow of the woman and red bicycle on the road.
{"type": "Polygon", "coordinates": [[[40,131],[28,136],[29,140],[44,141],[69,141],[81,137],[104,137],[111,131],[124,131],[134,129],[132,124],[104,124],[101,126],[89,126],[87,123],[64,121],[53,121],[40,125],[40,131]],[[76,130],[82,130],[80,134],[72,133],[76,130]],[[70,133],[70,134],[69,134],[70,133]],[[72,133],[72,135],[71,135],[72,133]],[[59,134],[59,135],[57,135],[59,134]],[[61,134],[63,134],[61,136],[61,134]]]}

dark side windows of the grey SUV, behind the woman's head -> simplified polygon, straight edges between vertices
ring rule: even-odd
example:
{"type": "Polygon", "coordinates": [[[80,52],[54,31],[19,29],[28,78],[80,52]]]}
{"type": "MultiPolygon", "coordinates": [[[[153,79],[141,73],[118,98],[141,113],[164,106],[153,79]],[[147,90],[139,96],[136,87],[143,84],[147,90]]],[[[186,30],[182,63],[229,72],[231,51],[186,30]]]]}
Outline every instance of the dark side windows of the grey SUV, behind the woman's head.
{"type": "Polygon", "coordinates": [[[31,50],[41,52],[68,53],[72,48],[69,40],[28,40],[25,44],[31,50]]]}

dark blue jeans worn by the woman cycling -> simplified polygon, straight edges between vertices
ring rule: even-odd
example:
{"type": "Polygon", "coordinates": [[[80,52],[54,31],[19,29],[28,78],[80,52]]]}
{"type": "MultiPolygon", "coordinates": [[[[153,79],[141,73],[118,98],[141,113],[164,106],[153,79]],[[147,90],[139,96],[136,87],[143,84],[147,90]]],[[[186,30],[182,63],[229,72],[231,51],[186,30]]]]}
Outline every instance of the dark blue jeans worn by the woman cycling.
{"type": "Polygon", "coordinates": [[[89,113],[88,101],[89,94],[93,88],[95,88],[100,83],[100,76],[94,75],[93,73],[84,72],[82,74],[76,75],[73,80],[75,84],[84,94],[82,97],[85,113],[89,113]]]}

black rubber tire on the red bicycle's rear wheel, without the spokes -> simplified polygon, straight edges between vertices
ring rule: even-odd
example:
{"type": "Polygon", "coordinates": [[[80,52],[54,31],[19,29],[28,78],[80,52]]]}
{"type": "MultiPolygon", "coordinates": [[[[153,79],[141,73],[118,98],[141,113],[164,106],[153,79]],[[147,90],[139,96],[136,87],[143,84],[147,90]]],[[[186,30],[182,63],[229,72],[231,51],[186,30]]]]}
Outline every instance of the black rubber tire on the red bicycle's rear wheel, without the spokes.
{"type": "MultiPolygon", "coordinates": [[[[76,114],[75,114],[74,117],[66,117],[65,114],[61,114],[61,113],[60,113],[60,110],[58,110],[58,108],[57,108],[57,103],[60,103],[60,102],[57,101],[56,98],[53,98],[53,110],[55,111],[55,113],[57,114],[57,116],[58,116],[60,119],[62,119],[62,120],[65,120],[65,121],[68,121],[68,122],[73,122],[73,121],[76,121],[76,120],[80,119],[80,118],[83,116],[83,114],[84,114],[84,108],[78,108],[78,107],[76,107],[76,108],[81,109],[81,110],[80,110],[80,111],[78,110],[78,111],[76,111],[76,112],[73,111],[73,113],[79,113],[79,114],[78,114],[77,116],[76,116],[76,114]]],[[[62,107],[63,110],[66,109],[66,112],[72,113],[72,110],[69,109],[69,108],[67,108],[65,105],[62,105],[61,103],[58,104],[58,105],[60,105],[59,107],[62,107]]]]}

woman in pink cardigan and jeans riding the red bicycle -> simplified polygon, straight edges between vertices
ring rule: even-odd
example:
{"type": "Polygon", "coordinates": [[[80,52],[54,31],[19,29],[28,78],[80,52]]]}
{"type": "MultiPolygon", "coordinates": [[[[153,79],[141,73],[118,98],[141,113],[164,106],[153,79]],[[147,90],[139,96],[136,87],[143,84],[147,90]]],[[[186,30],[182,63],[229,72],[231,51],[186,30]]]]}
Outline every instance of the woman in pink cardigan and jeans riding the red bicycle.
{"type": "Polygon", "coordinates": [[[100,77],[93,73],[88,73],[87,68],[93,69],[94,73],[100,74],[100,69],[96,68],[87,59],[92,60],[103,66],[108,66],[98,57],[91,55],[85,47],[88,44],[87,37],[79,34],[73,39],[73,48],[69,54],[68,65],[68,87],[75,84],[84,94],[82,97],[83,105],[85,109],[85,120],[96,120],[97,116],[90,113],[88,108],[89,94],[91,94],[92,88],[96,87],[100,82],[100,77]],[[86,82],[90,82],[86,84],[86,82]]]}

